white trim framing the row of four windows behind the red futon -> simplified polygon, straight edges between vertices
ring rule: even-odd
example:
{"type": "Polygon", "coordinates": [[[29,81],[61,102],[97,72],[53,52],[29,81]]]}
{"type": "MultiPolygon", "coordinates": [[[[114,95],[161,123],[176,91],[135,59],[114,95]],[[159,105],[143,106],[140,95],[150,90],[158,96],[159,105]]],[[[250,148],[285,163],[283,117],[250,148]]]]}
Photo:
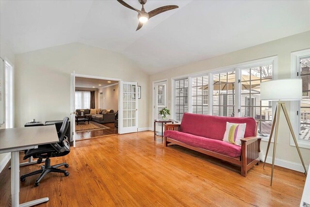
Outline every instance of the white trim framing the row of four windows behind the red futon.
{"type": "MultiPolygon", "coordinates": [[[[191,90],[189,90],[191,84],[192,84],[192,78],[200,77],[200,76],[208,76],[209,77],[209,83],[213,81],[213,75],[217,73],[225,73],[225,72],[230,72],[230,71],[235,71],[235,76],[236,76],[236,81],[235,81],[235,86],[236,86],[236,91],[235,91],[235,117],[240,117],[241,112],[239,112],[239,109],[241,109],[241,95],[240,95],[240,89],[241,89],[241,83],[238,83],[238,80],[241,79],[241,70],[248,68],[248,67],[256,67],[256,66],[261,66],[263,64],[272,64],[272,79],[277,80],[278,79],[278,56],[271,56],[267,58],[262,58],[258,60],[253,60],[253,61],[248,61],[240,64],[233,64],[233,65],[228,65],[225,67],[219,67],[211,70],[205,70],[201,71],[198,73],[191,73],[191,74],[186,74],[182,76],[177,76],[177,77],[172,77],[171,78],[171,114],[172,114],[172,119],[175,120],[175,105],[174,105],[174,94],[175,94],[175,80],[180,80],[180,79],[188,79],[188,94],[187,94],[187,107],[188,107],[188,112],[192,112],[192,106],[190,103],[192,103],[192,94],[191,90]],[[239,98],[238,98],[239,97],[239,98]]],[[[212,106],[213,106],[213,84],[209,84],[209,90],[208,90],[208,105],[209,105],[209,114],[212,114],[212,106]]],[[[272,110],[274,111],[276,109],[276,102],[272,102],[272,110]]],[[[273,116],[274,117],[274,116],[273,116]]],[[[259,135],[258,135],[259,136],[259,135]]],[[[263,137],[259,136],[262,138],[262,141],[268,142],[269,141],[269,136],[263,137]]],[[[271,140],[273,143],[273,139],[271,140]]]]}

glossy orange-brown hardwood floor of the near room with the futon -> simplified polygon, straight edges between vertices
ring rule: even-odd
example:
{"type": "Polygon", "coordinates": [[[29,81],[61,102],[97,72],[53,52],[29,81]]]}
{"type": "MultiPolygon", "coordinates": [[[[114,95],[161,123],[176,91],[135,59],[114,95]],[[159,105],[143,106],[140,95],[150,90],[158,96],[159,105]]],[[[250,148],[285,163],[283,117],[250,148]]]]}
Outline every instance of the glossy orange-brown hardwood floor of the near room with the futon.
{"type": "MultiPolygon", "coordinates": [[[[21,158],[23,154],[20,154],[21,158]]],[[[299,206],[305,176],[276,167],[239,168],[180,146],[164,147],[151,131],[77,142],[51,164],[66,161],[70,175],[49,174],[35,188],[37,175],[20,183],[20,202],[49,197],[42,207],[89,206],[299,206]]],[[[20,168],[20,175],[39,169],[20,168]]],[[[10,170],[0,174],[0,206],[9,206],[10,170]]]]}

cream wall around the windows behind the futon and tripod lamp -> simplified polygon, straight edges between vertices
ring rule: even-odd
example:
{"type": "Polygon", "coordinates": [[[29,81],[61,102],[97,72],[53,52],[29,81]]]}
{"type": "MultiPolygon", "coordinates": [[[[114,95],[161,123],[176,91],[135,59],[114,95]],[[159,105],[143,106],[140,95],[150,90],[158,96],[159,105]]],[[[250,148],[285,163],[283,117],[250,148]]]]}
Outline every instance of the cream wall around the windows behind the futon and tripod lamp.
{"type": "MultiPolygon", "coordinates": [[[[203,43],[202,43],[203,44],[203,43]]],[[[279,40],[267,42],[250,48],[241,49],[225,55],[220,55],[214,58],[206,59],[203,61],[186,64],[180,67],[171,68],[164,72],[160,72],[150,76],[149,94],[152,94],[152,81],[168,79],[168,108],[171,108],[171,78],[182,76],[186,74],[199,73],[206,70],[214,70],[219,67],[224,67],[233,64],[248,62],[265,57],[278,56],[278,78],[290,78],[291,76],[291,52],[310,48],[310,31],[296,34],[293,36],[285,37],[279,40]]],[[[150,96],[151,98],[151,96],[150,96]]],[[[152,120],[152,101],[149,105],[149,126],[153,125],[152,120]]],[[[290,103],[287,103],[288,110],[290,103]]],[[[277,145],[276,158],[295,163],[301,163],[298,157],[296,148],[290,145],[289,129],[286,126],[284,116],[281,117],[279,131],[279,144],[277,145]]],[[[262,142],[262,154],[266,152],[266,142],[262,142]]],[[[270,147],[272,149],[272,146],[270,147]]],[[[269,150],[268,156],[271,155],[272,150],[269,150]]],[[[301,149],[303,159],[306,165],[310,163],[310,149],[301,149]]]]}

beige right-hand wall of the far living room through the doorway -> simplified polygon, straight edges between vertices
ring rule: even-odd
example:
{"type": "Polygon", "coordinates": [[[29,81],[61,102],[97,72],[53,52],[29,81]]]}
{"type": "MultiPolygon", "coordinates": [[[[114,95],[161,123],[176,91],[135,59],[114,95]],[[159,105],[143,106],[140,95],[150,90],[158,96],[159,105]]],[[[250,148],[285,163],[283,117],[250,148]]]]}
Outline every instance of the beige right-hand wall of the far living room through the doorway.
{"type": "Polygon", "coordinates": [[[98,94],[103,93],[102,109],[113,109],[114,112],[118,110],[118,88],[118,84],[116,84],[98,90],[98,94]]]}

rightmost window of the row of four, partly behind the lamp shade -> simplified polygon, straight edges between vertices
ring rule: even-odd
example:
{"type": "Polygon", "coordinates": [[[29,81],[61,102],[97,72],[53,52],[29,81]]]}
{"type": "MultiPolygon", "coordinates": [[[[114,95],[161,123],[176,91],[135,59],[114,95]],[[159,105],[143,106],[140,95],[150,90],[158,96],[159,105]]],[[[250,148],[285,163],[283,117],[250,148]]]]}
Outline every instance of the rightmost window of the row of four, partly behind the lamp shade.
{"type": "Polygon", "coordinates": [[[241,70],[241,116],[259,121],[259,132],[270,134],[272,106],[270,101],[261,101],[261,82],[272,80],[272,64],[241,70]]]}

